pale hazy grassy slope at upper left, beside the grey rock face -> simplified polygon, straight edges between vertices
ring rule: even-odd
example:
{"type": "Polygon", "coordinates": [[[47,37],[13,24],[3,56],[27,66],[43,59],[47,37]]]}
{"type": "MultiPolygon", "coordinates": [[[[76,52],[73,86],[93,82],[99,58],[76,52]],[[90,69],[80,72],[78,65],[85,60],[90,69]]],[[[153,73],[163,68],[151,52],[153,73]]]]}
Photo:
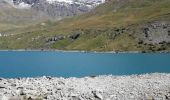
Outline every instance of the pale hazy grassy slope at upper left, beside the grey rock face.
{"type": "Polygon", "coordinates": [[[17,33],[18,29],[35,25],[48,19],[43,13],[18,8],[10,0],[0,1],[0,33],[17,33]]]}

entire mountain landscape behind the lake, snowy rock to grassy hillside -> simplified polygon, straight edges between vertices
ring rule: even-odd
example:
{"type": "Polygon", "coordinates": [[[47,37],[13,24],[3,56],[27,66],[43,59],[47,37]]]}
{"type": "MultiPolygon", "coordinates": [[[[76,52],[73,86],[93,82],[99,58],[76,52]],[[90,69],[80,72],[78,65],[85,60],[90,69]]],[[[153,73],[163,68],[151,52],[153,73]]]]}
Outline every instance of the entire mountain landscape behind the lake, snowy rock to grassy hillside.
{"type": "Polygon", "coordinates": [[[0,0],[0,49],[170,50],[170,0],[0,0]]]}

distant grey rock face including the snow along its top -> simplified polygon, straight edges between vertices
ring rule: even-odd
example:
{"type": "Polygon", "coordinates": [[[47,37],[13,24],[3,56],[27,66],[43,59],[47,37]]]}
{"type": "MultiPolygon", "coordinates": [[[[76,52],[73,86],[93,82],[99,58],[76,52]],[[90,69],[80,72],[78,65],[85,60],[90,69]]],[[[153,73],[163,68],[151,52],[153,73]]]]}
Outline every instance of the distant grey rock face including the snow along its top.
{"type": "Polygon", "coordinates": [[[104,3],[101,0],[92,0],[93,2],[73,0],[71,3],[66,1],[61,2],[60,0],[54,0],[53,2],[49,2],[47,0],[13,0],[13,3],[14,5],[20,5],[21,3],[24,5],[30,5],[32,9],[43,12],[56,19],[88,12],[96,5],[104,3]]]}

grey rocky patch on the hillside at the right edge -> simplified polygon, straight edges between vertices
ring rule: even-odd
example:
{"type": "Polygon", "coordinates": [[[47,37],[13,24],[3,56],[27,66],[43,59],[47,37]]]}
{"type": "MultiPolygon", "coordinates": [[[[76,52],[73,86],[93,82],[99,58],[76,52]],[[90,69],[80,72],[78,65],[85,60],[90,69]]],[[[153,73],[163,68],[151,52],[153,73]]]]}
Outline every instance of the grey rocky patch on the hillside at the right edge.
{"type": "Polygon", "coordinates": [[[143,27],[141,39],[147,44],[170,42],[170,22],[153,22],[143,27]]]}

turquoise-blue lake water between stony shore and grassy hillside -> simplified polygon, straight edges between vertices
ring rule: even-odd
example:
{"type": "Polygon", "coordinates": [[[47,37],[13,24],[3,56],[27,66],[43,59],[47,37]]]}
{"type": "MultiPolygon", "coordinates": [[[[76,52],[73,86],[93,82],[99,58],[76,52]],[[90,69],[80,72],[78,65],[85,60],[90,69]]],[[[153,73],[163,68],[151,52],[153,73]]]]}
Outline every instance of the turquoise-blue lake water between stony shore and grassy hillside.
{"type": "Polygon", "coordinates": [[[170,54],[0,51],[0,77],[83,77],[170,72],[170,54]]]}

